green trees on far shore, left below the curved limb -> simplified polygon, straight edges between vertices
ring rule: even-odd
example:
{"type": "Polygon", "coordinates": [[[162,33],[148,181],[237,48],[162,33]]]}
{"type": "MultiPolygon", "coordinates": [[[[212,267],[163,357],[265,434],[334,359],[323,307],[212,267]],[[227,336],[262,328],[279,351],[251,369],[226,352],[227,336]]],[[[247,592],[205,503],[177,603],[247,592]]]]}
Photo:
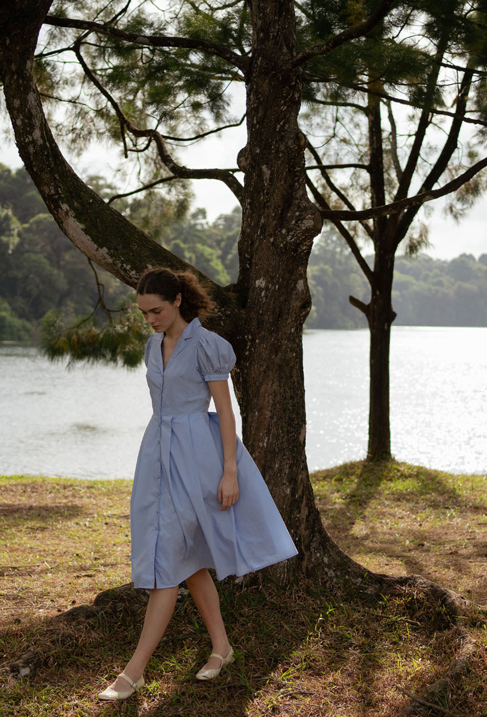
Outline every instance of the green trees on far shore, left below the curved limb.
{"type": "MultiPolygon", "coordinates": [[[[93,264],[90,266],[46,212],[24,168],[12,172],[0,167],[0,176],[0,295],[4,307],[9,306],[10,317],[0,327],[0,339],[32,338],[51,309],[62,311],[70,324],[79,323],[80,315],[93,313],[94,306],[94,315],[100,318],[101,313],[106,319],[100,307],[102,292],[103,305],[112,309],[131,303],[128,290],[113,276],[103,270],[94,276],[93,264]]],[[[107,188],[98,183],[98,189],[103,192],[107,188]]]]}

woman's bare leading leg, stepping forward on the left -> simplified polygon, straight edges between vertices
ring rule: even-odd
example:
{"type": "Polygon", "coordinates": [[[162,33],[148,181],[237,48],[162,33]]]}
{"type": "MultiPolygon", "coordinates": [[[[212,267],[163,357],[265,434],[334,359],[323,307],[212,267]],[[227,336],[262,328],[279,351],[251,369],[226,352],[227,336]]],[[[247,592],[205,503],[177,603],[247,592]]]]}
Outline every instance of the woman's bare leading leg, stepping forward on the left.
{"type": "MultiPolygon", "coordinates": [[[[138,639],[136,651],[133,653],[130,662],[123,670],[134,682],[142,675],[153,651],[159,645],[164,632],[166,632],[166,627],[174,612],[177,597],[177,586],[151,590],[146,617],[143,620],[141,637],[138,639]]],[[[128,690],[131,685],[123,678],[117,678],[110,687],[113,690],[122,692],[123,690],[128,690]]]]}

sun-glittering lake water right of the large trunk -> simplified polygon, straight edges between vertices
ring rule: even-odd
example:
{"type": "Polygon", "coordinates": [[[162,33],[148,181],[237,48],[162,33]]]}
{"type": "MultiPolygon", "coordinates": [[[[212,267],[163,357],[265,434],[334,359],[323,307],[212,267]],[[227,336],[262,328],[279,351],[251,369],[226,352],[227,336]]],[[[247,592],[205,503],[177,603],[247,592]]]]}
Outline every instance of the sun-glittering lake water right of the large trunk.
{"type": "MultiPolygon", "coordinates": [[[[369,331],[303,338],[308,462],[363,458],[369,421],[369,331]]],[[[487,329],[394,326],[392,453],[452,472],[487,470],[487,329]]]]}

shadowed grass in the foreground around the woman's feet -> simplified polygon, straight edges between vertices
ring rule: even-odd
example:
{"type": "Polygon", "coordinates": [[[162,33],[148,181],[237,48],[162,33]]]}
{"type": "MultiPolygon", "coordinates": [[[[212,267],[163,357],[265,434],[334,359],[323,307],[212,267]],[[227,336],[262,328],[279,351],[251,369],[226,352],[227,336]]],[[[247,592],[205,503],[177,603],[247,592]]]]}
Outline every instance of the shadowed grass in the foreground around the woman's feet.
{"type": "MultiPolygon", "coordinates": [[[[386,703],[392,711],[404,703],[394,681],[413,679],[420,690],[438,671],[432,635],[449,624],[421,596],[340,597],[318,585],[284,590],[265,581],[245,590],[219,586],[219,592],[237,661],[216,680],[195,680],[210,645],[186,597],[148,664],[146,688],[128,701],[96,701],[125,666],[141,629],[143,609],[119,607],[82,624],[59,621],[61,632],[49,625],[44,632],[39,625],[16,628],[5,645],[11,651],[37,641],[42,667],[24,685],[4,689],[1,702],[22,717],[257,717],[298,714],[303,706],[316,708],[310,714],[339,709],[344,717],[372,717],[386,703]]],[[[441,657],[442,668],[448,659],[441,657]]]]}

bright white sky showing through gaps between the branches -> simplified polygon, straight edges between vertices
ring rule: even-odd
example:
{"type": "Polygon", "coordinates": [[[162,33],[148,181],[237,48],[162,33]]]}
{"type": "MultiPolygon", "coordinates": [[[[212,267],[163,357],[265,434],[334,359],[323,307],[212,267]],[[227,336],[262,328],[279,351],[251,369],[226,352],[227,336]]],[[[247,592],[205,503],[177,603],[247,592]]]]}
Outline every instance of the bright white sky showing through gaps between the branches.
{"type": "MultiPolygon", "coordinates": [[[[235,115],[238,115],[238,106],[235,115]]],[[[242,108],[240,108],[242,109],[242,108]]],[[[242,115],[240,115],[242,116],[242,115]]],[[[192,168],[236,167],[237,153],[245,146],[245,124],[238,128],[225,130],[212,135],[200,143],[194,143],[186,149],[178,148],[181,163],[192,168]],[[222,136],[223,135],[223,136],[222,136]]],[[[129,191],[138,186],[135,180],[119,186],[114,152],[103,146],[90,146],[80,157],[70,155],[69,148],[61,146],[65,158],[77,174],[85,178],[89,174],[101,174],[113,179],[120,191],[129,191]]],[[[4,131],[1,140],[0,162],[10,168],[22,166],[13,135],[9,128],[4,131]]],[[[237,174],[242,180],[242,174],[237,174]]],[[[219,214],[231,212],[237,200],[230,189],[221,181],[200,179],[192,182],[194,208],[204,207],[210,222],[219,214]]],[[[476,259],[487,253],[487,195],[482,196],[476,205],[466,214],[460,223],[445,215],[442,199],[432,202],[435,209],[428,217],[430,247],[425,253],[436,259],[451,260],[462,253],[472,254],[476,259]]],[[[367,250],[366,250],[367,252],[367,250]]]]}

